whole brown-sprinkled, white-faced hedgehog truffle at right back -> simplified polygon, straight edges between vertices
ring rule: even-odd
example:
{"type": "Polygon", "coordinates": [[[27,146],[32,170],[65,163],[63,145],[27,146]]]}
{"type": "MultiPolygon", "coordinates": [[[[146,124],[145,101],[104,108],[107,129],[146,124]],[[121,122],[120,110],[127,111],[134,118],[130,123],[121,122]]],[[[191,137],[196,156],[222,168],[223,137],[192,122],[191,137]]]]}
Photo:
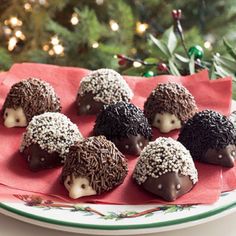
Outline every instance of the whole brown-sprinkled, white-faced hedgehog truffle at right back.
{"type": "Polygon", "coordinates": [[[144,104],[149,123],[162,133],[181,128],[197,111],[194,97],[182,85],[159,84],[144,104]]]}

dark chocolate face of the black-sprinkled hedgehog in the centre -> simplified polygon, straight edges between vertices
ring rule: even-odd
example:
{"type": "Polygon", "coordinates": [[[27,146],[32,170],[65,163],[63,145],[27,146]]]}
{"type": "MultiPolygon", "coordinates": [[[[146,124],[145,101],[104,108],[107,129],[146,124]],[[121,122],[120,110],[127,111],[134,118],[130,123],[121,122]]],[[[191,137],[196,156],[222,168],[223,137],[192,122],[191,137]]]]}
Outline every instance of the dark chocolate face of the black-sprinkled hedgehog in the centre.
{"type": "Polygon", "coordinates": [[[149,140],[138,134],[137,136],[128,135],[127,138],[122,139],[115,138],[112,142],[122,153],[139,156],[143,148],[149,143],[149,140]],[[126,148],[126,145],[128,145],[128,148],[126,148]]]}

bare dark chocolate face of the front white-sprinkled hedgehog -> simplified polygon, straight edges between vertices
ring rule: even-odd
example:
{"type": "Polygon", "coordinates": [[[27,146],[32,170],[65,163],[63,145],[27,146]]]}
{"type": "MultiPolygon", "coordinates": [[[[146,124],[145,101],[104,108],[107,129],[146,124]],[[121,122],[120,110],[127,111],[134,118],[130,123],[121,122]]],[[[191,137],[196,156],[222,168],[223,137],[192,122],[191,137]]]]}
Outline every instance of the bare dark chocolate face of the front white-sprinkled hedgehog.
{"type": "Polygon", "coordinates": [[[142,187],[148,192],[168,202],[172,202],[189,192],[193,188],[193,183],[188,176],[176,172],[169,172],[158,178],[149,176],[142,184],[142,187]],[[162,186],[161,188],[160,185],[162,186]]]}

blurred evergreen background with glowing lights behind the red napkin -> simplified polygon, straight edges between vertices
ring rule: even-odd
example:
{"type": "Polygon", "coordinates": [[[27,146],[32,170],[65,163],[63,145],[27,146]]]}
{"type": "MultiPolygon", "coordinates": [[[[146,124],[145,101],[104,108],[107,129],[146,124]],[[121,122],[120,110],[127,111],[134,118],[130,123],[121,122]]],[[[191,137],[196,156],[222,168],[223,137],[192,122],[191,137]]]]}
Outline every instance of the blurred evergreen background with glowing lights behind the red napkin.
{"type": "Polygon", "coordinates": [[[28,61],[147,77],[189,74],[194,54],[196,70],[235,77],[235,21],[236,0],[0,0],[0,70],[28,61]],[[180,19],[173,9],[182,10],[180,19]],[[174,38],[165,33],[173,25],[183,37],[178,28],[174,38]]]}

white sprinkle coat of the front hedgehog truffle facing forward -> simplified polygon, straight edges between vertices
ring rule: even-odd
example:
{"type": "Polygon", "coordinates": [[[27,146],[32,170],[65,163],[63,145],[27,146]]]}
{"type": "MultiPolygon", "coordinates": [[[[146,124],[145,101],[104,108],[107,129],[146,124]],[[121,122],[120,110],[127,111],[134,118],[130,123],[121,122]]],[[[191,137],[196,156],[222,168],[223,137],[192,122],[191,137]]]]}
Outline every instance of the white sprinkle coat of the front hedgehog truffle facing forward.
{"type": "Polygon", "coordinates": [[[149,176],[158,178],[168,172],[189,176],[193,184],[198,181],[198,173],[190,152],[180,142],[161,137],[143,149],[133,178],[141,185],[149,176]]]}

